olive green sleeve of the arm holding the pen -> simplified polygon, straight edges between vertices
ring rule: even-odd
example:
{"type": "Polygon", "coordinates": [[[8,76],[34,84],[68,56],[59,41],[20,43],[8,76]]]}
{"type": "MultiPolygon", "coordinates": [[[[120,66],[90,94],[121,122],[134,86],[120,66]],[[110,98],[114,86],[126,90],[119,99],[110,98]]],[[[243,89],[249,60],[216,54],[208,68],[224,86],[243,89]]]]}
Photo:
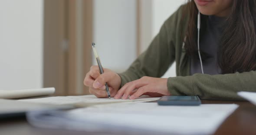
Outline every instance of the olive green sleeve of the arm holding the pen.
{"type": "Polygon", "coordinates": [[[174,37],[177,28],[177,20],[181,14],[181,8],[177,10],[164,24],[153,39],[148,49],[144,51],[131,64],[127,71],[119,74],[121,87],[143,76],[161,77],[175,60],[174,37]]]}

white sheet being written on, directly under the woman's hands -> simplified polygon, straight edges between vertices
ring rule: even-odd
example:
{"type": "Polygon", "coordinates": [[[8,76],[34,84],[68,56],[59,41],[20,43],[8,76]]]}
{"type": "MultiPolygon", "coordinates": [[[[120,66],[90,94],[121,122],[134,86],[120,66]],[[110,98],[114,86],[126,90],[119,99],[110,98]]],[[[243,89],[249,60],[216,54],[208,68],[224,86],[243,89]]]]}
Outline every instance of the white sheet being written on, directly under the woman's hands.
{"type": "Polygon", "coordinates": [[[30,100],[19,100],[33,103],[45,103],[45,104],[55,104],[55,105],[66,105],[75,104],[77,106],[88,106],[97,105],[105,103],[137,103],[137,102],[150,102],[157,101],[159,97],[141,96],[135,100],[122,100],[122,99],[108,99],[108,98],[97,98],[94,95],[84,95],[84,96],[54,96],[30,100]]]}

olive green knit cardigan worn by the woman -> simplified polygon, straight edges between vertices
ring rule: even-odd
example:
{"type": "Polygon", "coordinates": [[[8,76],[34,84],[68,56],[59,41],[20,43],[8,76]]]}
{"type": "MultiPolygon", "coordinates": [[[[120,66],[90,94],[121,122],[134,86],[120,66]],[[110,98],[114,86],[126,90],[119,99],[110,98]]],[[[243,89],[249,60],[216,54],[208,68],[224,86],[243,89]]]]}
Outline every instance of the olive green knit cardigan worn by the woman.
{"type": "Polygon", "coordinates": [[[197,95],[207,100],[243,100],[238,91],[256,92],[256,71],[234,74],[193,74],[190,76],[190,57],[183,40],[188,16],[181,6],[163,24],[160,32],[121,77],[121,87],[143,76],[161,77],[176,62],[177,77],[169,77],[167,88],[171,95],[197,95]]]}

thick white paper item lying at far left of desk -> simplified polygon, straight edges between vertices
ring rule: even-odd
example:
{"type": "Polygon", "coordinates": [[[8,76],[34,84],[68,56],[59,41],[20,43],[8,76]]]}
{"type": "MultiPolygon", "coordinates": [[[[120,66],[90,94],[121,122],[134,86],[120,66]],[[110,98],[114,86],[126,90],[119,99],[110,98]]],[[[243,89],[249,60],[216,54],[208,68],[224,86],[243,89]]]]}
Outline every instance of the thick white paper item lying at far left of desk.
{"type": "Polygon", "coordinates": [[[28,89],[28,90],[0,90],[0,98],[3,99],[16,99],[23,97],[45,96],[55,92],[54,87],[28,89]]]}

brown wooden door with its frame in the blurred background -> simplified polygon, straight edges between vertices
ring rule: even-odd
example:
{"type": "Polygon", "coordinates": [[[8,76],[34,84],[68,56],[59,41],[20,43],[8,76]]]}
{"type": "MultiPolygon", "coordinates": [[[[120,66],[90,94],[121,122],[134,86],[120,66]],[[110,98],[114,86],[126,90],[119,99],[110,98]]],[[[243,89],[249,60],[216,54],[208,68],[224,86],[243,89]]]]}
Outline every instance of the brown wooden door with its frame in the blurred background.
{"type": "Polygon", "coordinates": [[[56,95],[88,94],[92,65],[92,0],[44,0],[44,87],[56,95]]]}

